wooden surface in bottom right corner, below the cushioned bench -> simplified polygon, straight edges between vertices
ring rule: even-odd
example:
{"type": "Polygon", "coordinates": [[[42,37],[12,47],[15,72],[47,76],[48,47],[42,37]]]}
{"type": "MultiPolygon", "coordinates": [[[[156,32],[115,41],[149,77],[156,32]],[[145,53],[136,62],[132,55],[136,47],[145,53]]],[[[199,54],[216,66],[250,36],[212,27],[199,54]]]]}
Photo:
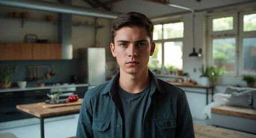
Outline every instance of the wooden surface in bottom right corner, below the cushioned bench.
{"type": "Polygon", "coordinates": [[[196,138],[238,138],[238,137],[246,137],[246,138],[255,138],[256,135],[240,132],[240,131],[232,131],[231,129],[217,128],[209,125],[201,125],[194,123],[194,131],[196,138]]]}

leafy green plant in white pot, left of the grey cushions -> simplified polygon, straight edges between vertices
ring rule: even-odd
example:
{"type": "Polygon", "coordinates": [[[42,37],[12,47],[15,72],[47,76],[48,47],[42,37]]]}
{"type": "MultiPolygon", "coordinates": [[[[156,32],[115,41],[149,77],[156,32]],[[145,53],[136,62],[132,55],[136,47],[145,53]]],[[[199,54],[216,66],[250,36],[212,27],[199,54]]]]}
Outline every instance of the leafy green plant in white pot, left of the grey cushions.
{"type": "Polygon", "coordinates": [[[202,85],[203,86],[209,86],[214,85],[214,83],[217,81],[217,77],[224,74],[225,67],[221,67],[217,69],[216,66],[204,66],[202,65],[201,68],[199,68],[199,71],[201,72],[200,78],[202,78],[202,85]]]}

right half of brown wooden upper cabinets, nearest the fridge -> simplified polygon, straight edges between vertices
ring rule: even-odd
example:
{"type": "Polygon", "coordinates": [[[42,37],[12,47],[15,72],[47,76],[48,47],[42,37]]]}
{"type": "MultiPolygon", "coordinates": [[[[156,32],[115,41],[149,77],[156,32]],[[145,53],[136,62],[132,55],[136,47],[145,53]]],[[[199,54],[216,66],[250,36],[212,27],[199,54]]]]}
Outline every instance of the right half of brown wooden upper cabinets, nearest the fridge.
{"type": "Polygon", "coordinates": [[[62,59],[61,44],[32,44],[32,59],[62,59]]]}

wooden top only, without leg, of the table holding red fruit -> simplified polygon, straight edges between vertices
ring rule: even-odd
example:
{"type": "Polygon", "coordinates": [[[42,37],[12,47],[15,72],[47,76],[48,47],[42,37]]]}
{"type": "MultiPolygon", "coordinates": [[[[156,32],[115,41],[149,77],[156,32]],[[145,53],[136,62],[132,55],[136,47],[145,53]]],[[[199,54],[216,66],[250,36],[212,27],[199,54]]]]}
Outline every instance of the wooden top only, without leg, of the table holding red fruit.
{"type": "MultiPolygon", "coordinates": [[[[83,101],[83,99],[79,99],[79,100],[83,101]]],[[[16,105],[16,108],[25,113],[28,113],[35,117],[40,118],[40,117],[53,116],[56,114],[79,112],[81,108],[81,104],[80,105],[67,104],[66,106],[60,106],[56,108],[43,108],[42,106],[39,106],[38,103],[34,103],[34,104],[16,105]]]]}

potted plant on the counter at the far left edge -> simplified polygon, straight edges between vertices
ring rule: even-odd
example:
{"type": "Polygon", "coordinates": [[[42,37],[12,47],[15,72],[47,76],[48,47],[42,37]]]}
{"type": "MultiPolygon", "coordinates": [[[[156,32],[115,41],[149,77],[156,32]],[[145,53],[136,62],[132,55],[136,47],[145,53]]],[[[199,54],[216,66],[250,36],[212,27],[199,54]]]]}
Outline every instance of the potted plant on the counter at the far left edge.
{"type": "Polygon", "coordinates": [[[7,68],[0,70],[0,88],[9,88],[12,82],[12,74],[7,68]]]}

